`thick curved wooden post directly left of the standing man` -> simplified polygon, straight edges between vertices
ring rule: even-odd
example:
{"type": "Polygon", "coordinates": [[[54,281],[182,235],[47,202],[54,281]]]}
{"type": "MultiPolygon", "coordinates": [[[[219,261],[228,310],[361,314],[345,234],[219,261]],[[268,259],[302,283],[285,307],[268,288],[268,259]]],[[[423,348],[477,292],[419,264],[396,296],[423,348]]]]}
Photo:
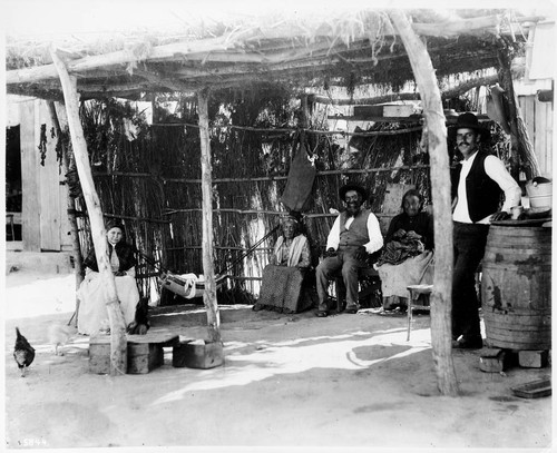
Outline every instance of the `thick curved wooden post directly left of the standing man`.
{"type": "Polygon", "coordinates": [[[423,102],[428,126],[431,195],[433,198],[436,269],[431,295],[431,345],[437,372],[437,385],[443,395],[457,396],[458,384],[452,362],[452,218],[450,199],[449,154],[441,93],[428,50],[412,30],[404,12],[390,10],[389,16],[399,32],[423,102]]]}

